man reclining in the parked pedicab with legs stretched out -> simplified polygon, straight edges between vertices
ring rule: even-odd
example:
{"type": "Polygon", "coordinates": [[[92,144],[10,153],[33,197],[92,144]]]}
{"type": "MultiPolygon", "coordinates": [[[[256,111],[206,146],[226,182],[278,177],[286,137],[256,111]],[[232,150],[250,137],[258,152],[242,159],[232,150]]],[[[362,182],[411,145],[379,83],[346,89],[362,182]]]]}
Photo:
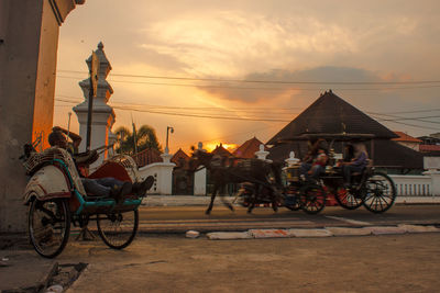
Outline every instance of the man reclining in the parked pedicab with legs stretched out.
{"type": "MultiPolygon", "coordinates": [[[[79,135],[67,132],[59,126],[53,127],[52,133],[48,135],[50,145],[57,146],[69,151],[70,155],[73,155],[77,168],[78,165],[90,165],[98,159],[98,154],[96,150],[90,151],[87,156],[78,156],[78,146],[80,142],[81,137],[79,135]],[[67,142],[66,135],[72,138],[72,144],[67,142]]],[[[154,182],[154,178],[152,176],[148,176],[142,182],[135,182],[132,184],[131,182],[123,182],[110,177],[89,179],[85,178],[81,172],[79,173],[81,176],[81,182],[87,194],[113,198],[118,203],[121,203],[124,199],[124,195],[130,193],[135,193],[139,196],[144,195],[145,192],[151,189],[154,182]]]]}

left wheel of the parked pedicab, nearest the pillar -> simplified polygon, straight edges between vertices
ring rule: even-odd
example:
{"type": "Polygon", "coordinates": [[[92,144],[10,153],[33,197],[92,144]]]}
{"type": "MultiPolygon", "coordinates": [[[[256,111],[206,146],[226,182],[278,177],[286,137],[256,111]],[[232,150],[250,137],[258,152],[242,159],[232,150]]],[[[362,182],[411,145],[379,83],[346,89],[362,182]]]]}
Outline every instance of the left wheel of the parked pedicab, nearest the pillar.
{"type": "Polygon", "coordinates": [[[70,212],[64,199],[38,201],[29,207],[29,236],[35,251],[54,258],[66,247],[70,234],[70,212]]]}

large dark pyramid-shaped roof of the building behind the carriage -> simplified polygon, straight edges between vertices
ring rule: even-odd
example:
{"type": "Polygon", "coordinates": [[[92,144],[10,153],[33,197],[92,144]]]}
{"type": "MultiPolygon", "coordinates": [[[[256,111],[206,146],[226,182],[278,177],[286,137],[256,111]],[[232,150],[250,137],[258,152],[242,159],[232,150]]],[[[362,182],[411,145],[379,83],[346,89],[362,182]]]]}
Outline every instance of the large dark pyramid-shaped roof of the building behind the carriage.
{"type": "Polygon", "coordinates": [[[266,145],[272,145],[268,158],[284,161],[294,150],[302,158],[308,140],[324,138],[336,153],[342,153],[349,142],[364,142],[377,167],[391,169],[422,169],[422,155],[391,140],[393,131],[342,100],[331,90],[326,91],[310,106],[288,123],[266,145]]]}

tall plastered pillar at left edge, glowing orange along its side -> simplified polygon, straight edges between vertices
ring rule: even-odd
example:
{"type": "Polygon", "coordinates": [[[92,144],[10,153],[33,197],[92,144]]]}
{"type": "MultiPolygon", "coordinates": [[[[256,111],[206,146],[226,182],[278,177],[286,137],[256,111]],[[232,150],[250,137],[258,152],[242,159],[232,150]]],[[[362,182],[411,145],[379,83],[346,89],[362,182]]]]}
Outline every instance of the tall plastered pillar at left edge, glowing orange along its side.
{"type": "Polygon", "coordinates": [[[22,146],[52,128],[59,26],[84,0],[0,1],[0,232],[24,232],[22,146]]]}

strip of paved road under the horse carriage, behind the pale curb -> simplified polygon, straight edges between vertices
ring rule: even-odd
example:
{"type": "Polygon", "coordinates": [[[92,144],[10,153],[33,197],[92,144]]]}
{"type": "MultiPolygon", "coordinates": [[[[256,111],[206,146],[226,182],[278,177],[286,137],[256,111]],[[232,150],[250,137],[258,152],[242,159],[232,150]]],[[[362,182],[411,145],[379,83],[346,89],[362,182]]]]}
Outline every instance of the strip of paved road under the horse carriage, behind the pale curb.
{"type": "Polygon", "coordinates": [[[328,206],[318,215],[301,211],[257,207],[248,214],[243,207],[231,212],[224,206],[215,206],[211,215],[205,206],[142,206],[140,209],[142,233],[184,233],[248,230],[250,228],[318,228],[328,226],[371,226],[398,224],[440,224],[440,205],[395,205],[384,214],[373,214],[363,207],[355,211],[328,206]]]}

